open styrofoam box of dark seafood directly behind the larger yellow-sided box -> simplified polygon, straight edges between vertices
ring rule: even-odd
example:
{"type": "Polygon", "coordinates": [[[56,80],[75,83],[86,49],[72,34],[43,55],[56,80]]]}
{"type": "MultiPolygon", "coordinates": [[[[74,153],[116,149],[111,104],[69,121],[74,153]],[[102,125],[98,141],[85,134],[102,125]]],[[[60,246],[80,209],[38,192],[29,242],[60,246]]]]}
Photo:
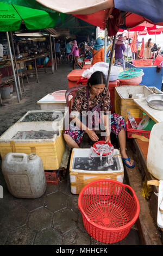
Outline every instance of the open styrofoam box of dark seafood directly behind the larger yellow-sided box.
{"type": "MultiPolygon", "coordinates": [[[[22,118],[20,118],[17,123],[23,123],[24,119],[29,115],[29,114],[33,114],[33,113],[53,113],[53,117],[56,117],[58,115],[58,118],[55,119],[54,121],[41,121],[41,122],[48,122],[49,124],[51,124],[52,122],[55,122],[54,125],[57,125],[58,127],[62,127],[62,129],[64,129],[64,124],[65,124],[65,120],[67,120],[67,122],[69,122],[69,115],[68,115],[68,109],[65,107],[65,109],[55,109],[55,110],[32,110],[32,111],[28,111],[26,114],[23,115],[22,118]]],[[[35,123],[35,121],[32,122],[27,122],[26,123],[35,123]]],[[[25,123],[24,122],[24,123],[25,123]]],[[[39,121],[40,122],[40,121],[39,121]]]]}

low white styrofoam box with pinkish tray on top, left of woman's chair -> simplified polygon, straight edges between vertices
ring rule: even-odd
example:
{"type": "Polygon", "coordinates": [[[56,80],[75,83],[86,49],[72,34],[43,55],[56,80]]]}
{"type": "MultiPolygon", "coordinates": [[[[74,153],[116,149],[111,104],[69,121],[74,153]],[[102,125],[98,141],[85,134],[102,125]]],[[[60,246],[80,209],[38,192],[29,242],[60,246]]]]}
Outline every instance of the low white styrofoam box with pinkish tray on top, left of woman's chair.
{"type": "MultiPolygon", "coordinates": [[[[71,101],[73,98],[72,95],[70,95],[69,101],[71,101]]],[[[40,105],[40,108],[42,110],[46,109],[64,109],[67,107],[66,100],[58,101],[55,100],[53,95],[51,93],[47,94],[45,97],[37,101],[37,104],[40,105]]]]}

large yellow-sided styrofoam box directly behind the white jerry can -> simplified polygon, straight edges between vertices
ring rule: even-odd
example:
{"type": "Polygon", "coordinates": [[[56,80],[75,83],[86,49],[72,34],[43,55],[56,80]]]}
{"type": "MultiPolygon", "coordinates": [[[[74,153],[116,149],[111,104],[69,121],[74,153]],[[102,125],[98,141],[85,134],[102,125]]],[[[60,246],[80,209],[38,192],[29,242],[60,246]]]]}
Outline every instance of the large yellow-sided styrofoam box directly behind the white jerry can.
{"type": "Polygon", "coordinates": [[[41,157],[45,170],[57,170],[65,151],[65,140],[61,126],[57,122],[15,123],[0,137],[0,154],[36,153],[41,157]],[[53,138],[48,139],[12,139],[18,131],[57,131],[53,138]]]}

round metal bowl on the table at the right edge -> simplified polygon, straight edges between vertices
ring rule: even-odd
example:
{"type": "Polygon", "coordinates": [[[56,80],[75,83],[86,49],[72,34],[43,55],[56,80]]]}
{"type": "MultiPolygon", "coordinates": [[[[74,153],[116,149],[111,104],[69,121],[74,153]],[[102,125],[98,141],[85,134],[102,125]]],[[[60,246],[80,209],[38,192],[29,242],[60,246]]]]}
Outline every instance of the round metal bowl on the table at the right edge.
{"type": "Polygon", "coordinates": [[[152,94],[146,97],[149,107],[154,109],[163,110],[163,94],[152,94]]]}

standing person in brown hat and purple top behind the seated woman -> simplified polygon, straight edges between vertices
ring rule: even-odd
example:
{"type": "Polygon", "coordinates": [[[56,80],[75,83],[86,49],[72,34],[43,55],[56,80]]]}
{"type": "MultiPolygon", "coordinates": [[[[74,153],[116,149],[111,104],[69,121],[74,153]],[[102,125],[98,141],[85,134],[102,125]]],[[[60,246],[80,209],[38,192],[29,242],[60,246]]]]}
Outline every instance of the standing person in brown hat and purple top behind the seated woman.
{"type": "Polygon", "coordinates": [[[125,70],[125,61],[123,57],[123,52],[126,50],[126,47],[123,44],[123,36],[119,36],[116,40],[115,44],[115,63],[114,65],[117,66],[118,63],[122,66],[123,70],[125,70]]]}

